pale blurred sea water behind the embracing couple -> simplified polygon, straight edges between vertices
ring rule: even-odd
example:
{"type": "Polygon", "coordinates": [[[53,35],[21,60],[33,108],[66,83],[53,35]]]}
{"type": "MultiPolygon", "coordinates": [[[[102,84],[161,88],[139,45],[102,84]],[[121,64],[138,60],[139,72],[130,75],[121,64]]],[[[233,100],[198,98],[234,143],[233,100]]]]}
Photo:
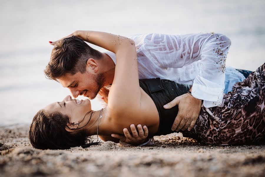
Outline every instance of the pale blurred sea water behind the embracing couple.
{"type": "MultiPolygon", "coordinates": [[[[29,124],[39,109],[70,94],[44,76],[48,41],[75,30],[123,36],[216,32],[232,41],[227,65],[254,71],[265,62],[264,8],[264,0],[1,1],[1,125],[29,124]]],[[[101,108],[97,100],[91,103],[101,108]]]]}

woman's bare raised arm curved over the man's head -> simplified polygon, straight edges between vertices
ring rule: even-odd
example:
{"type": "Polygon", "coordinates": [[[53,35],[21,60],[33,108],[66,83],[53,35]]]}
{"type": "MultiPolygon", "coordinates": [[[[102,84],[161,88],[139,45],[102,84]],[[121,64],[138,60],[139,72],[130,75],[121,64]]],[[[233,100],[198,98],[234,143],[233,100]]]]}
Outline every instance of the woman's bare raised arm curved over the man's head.
{"type": "MultiPolygon", "coordinates": [[[[115,114],[124,114],[125,111],[130,114],[139,109],[140,87],[134,41],[120,35],[97,31],[75,31],[67,37],[72,35],[116,54],[115,76],[108,96],[108,109],[115,114]]],[[[55,45],[57,42],[51,44],[55,45]]]]}

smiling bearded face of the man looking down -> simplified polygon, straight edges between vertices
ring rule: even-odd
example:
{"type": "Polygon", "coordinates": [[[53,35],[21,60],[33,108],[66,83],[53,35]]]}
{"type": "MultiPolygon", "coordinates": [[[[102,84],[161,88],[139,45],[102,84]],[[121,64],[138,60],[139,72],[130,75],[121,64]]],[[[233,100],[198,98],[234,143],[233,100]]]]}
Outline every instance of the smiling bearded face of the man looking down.
{"type": "Polygon", "coordinates": [[[100,89],[104,86],[105,77],[102,73],[91,74],[77,72],[72,75],[67,73],[65,76],[58,79],[63,87],[67,87],[72,96],[76,98],[78,95],[83,95],[89,99],[94,99],[100,89]]]}

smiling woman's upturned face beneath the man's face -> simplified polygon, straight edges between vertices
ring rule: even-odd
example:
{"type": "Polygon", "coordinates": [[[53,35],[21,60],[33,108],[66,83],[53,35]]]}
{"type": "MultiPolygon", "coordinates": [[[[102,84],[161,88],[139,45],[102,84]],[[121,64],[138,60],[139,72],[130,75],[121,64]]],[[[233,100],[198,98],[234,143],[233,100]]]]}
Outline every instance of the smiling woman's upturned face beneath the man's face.
{"type": "MultiPolygon", "coordinates": [[[[78,104],[76,99],[72,99],[72,97],[68,95],[60,102],[54,102],[45,106],[44,110],[49,112],[61,112],[69,116],[70,123],[77,124],[82,122],[85,115],[91,111],[91,103],[89,99],[85,99],[81,100],[81,104],[78,104]]],[[[84,123],[84,121],[82,123],[84,123]]],[[[80,126],[82,125],[80,124],[80,126]]]]}

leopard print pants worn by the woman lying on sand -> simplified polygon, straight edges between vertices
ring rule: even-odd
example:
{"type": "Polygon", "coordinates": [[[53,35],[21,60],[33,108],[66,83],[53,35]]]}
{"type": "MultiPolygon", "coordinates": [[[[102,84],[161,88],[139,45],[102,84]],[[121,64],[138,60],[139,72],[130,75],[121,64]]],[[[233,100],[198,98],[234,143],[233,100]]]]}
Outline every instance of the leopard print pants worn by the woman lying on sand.
{"type": "Polygon", "coordinates": [[[243,145],[264,142],[265,63],[233,90],[224,94],[220,106],[202,104],[196,125],[185,137],[195,137],[214,145],[243,145]]]}

